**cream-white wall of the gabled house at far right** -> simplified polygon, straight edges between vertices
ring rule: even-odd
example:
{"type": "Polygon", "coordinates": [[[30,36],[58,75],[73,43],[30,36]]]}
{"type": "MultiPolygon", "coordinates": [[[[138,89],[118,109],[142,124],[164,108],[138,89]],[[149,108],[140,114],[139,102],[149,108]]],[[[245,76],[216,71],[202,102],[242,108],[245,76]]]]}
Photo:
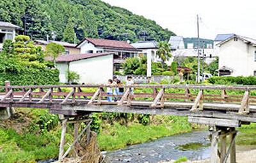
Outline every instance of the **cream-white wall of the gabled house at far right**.
{"type": "Polygon", "coordinates": [[[226,66],[233,72],[231,76],[250,76],[256,71],[256,62],[254,61],[256,47],[244,43],[242,40],[229,40],[219,48],[219,68],[226,66]]]}

